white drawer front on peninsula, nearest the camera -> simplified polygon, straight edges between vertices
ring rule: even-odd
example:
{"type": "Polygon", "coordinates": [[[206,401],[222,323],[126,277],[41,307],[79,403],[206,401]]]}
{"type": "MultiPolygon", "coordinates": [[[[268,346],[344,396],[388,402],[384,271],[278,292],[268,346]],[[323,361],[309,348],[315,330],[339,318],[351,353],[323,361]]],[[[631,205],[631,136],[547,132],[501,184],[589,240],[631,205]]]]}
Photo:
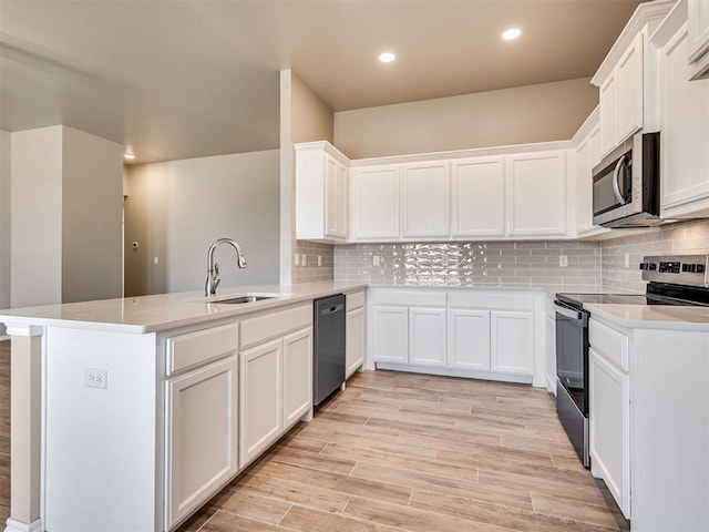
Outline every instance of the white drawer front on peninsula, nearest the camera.
{"type": "Polygon", "coordinates": [[[235,351],[238,345],[238,324],[212,327],[167,338],[167,375],[235,351]]]}

